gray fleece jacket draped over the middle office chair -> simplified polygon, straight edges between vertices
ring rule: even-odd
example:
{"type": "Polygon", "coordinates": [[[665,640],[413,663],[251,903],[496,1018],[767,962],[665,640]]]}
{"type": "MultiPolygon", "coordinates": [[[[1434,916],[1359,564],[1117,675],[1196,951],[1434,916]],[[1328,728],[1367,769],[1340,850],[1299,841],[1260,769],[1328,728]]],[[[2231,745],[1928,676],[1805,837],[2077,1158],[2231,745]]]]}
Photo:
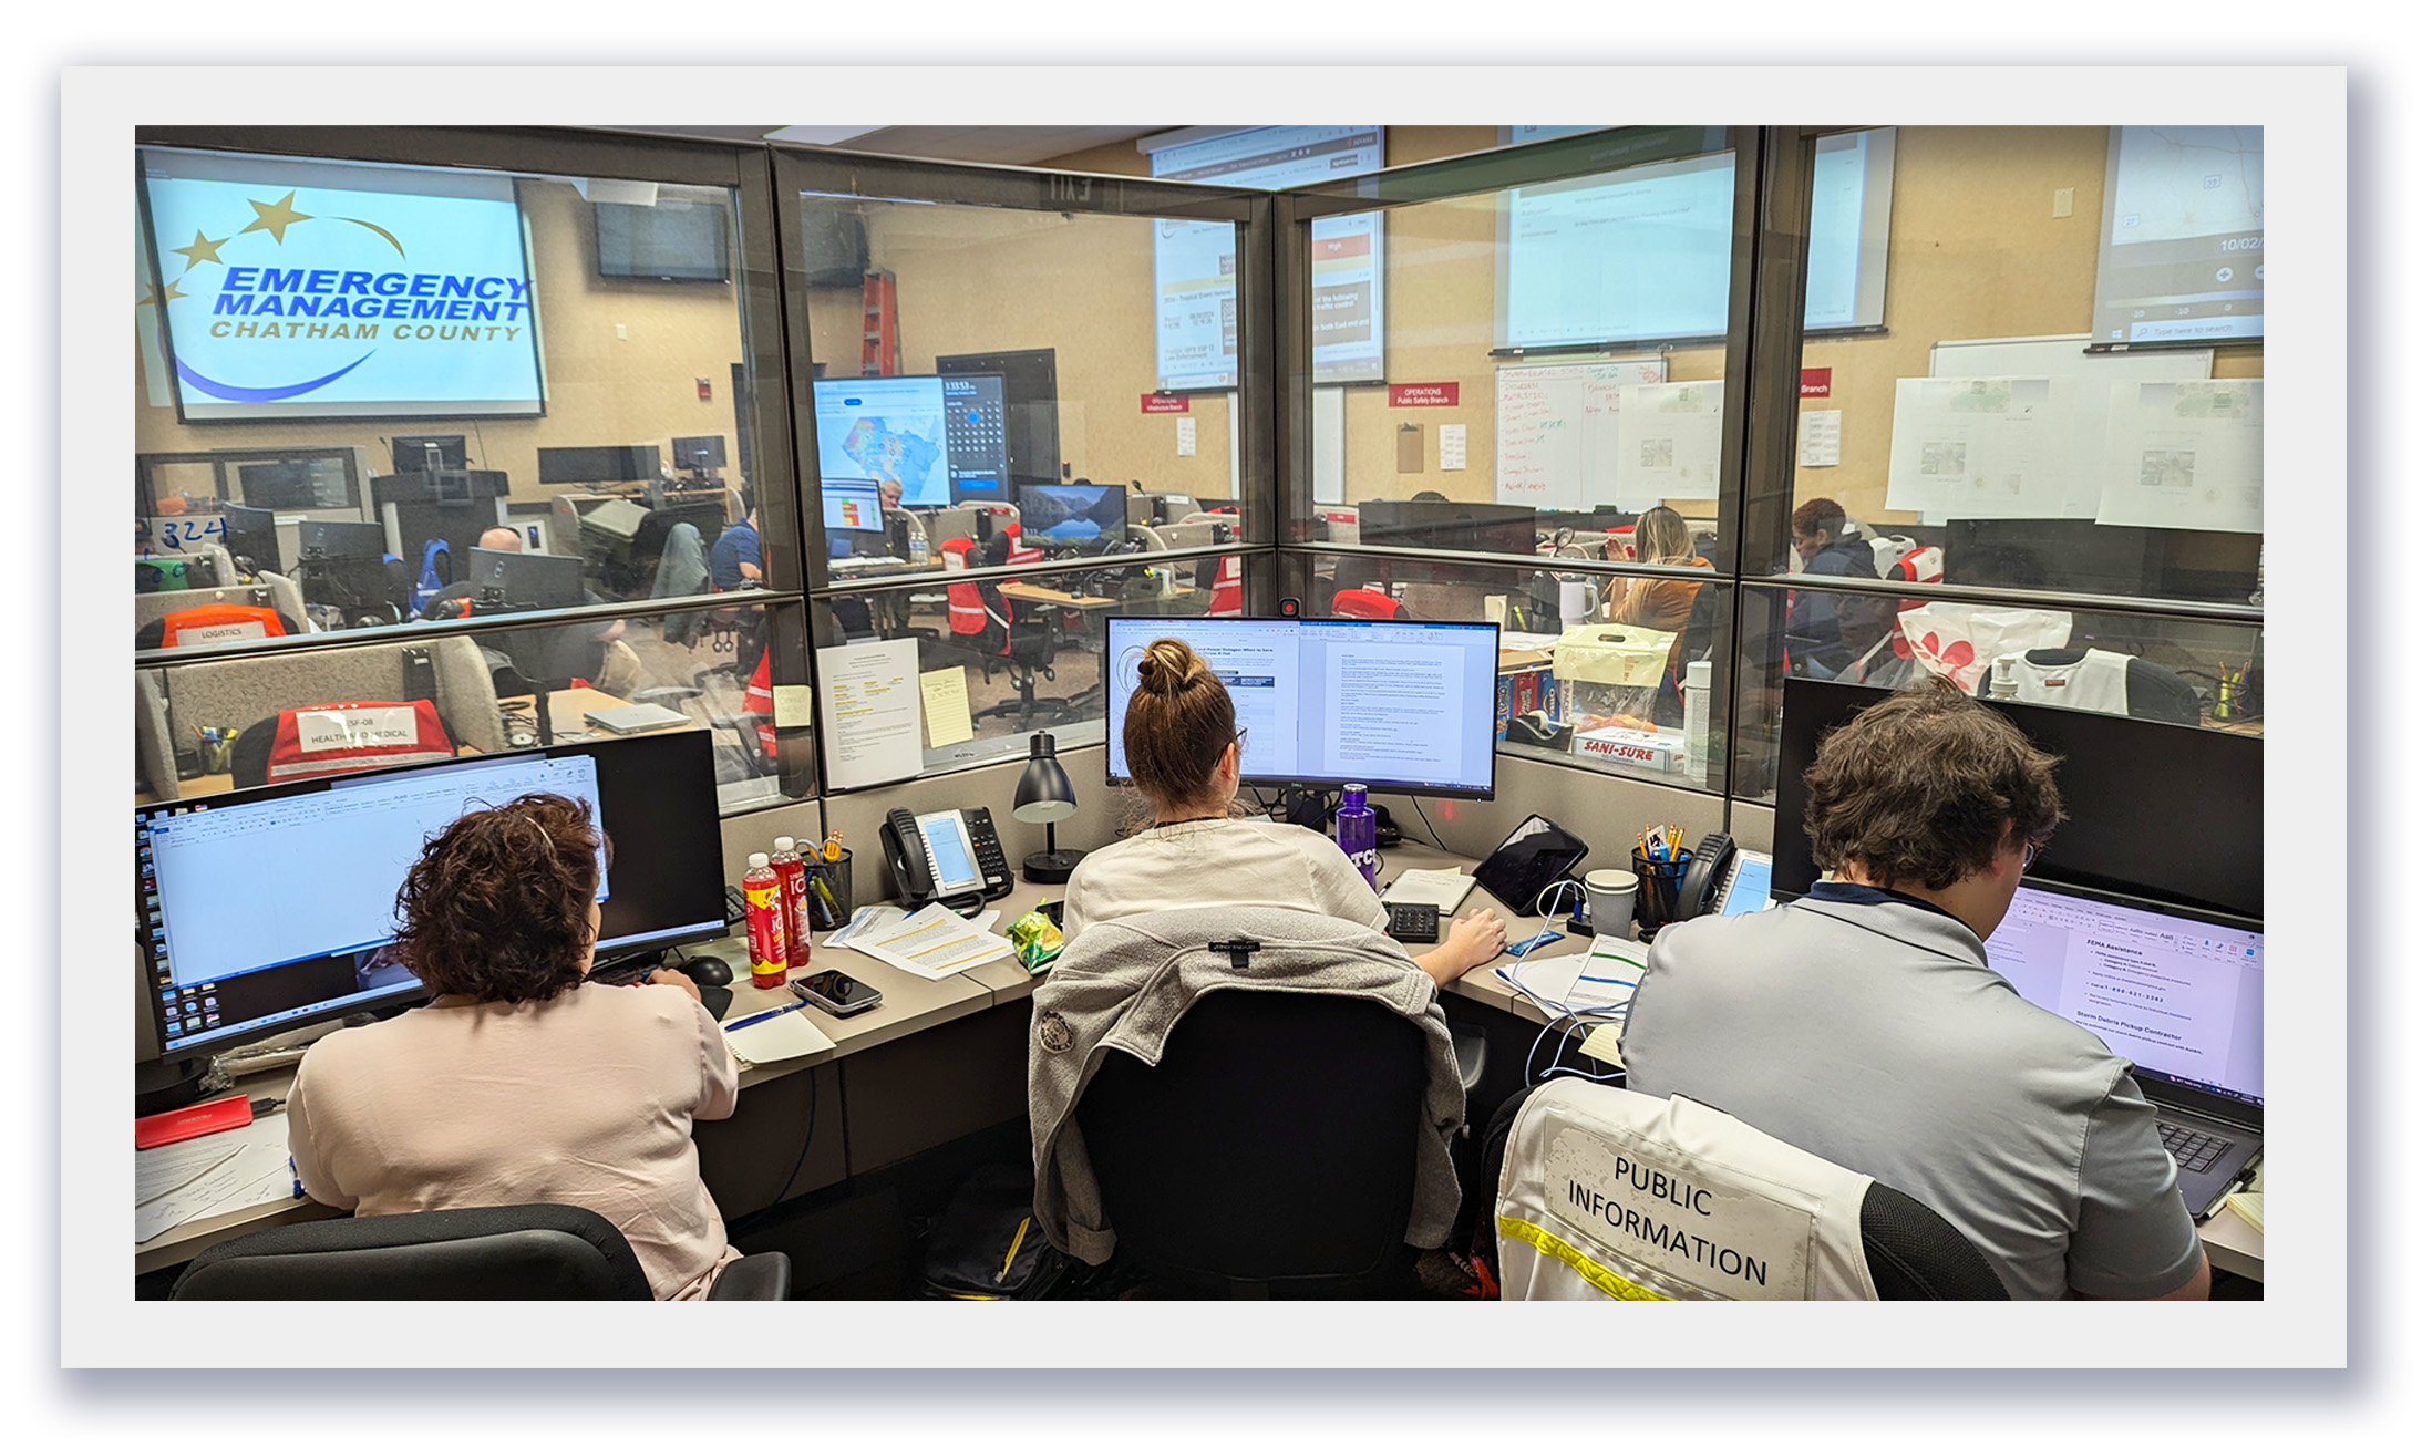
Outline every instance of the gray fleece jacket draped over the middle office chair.
{"type": "Polygon", "coordinates": [[[1422,1026],[1429,1089],[1414,1159],[1412,1222],[1405,1241],[1446,1243],[1456,1219],[1456,1168],[1446,1144],[1463,1127],[1463,1079],[1429,975],[1388,934],[1281,907],[1187,907],[1087,927],[1034,992],[1027,1031],[1027,1118],[1034,1125],[1034,1217],[1056,1248],[1107,1263],[1119,1234],[1102,1214],[1075,1108],[1119,1048],[1153,1064],[1194,999],[1223,987],[1351,994],[1422,1026]],[[1252,936],[1262,948],[1233,968],[1209,943],[1252,936]]]}

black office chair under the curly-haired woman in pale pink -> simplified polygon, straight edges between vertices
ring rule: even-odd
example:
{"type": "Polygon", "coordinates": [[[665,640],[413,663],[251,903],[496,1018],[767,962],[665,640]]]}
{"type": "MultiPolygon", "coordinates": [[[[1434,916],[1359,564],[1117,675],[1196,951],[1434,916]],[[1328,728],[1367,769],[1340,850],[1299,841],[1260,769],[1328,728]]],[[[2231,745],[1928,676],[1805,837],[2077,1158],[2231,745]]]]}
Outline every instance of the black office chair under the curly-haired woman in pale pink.
{"type": "MultiPolygon", "coordinates": [[[[790,1256],[722,1270],[710,1302],[780,1302],[790,1256]]],[[[630,1241],[564,1202],[295,1222],[203,1248],[179,1302],[649,1302],[630,1241]]]]}

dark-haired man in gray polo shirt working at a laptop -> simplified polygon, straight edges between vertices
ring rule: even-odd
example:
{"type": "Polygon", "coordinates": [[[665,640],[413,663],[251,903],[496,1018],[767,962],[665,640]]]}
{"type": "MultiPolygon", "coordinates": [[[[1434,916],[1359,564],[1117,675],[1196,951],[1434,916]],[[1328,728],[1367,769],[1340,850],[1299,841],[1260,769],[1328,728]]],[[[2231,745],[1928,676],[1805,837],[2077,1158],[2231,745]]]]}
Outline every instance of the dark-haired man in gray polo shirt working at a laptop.
{"type": "Polygon", "coordinates": [[[2010,1297],[2202,1299],[2211,1268],[2129,1064],[1986,968],[2061,820],[2051,767],[1940,680],[1829,733],[1807,830],[1836,881],[1661,929],[1630,1086],[1909,1193],[2010,1297]]]}

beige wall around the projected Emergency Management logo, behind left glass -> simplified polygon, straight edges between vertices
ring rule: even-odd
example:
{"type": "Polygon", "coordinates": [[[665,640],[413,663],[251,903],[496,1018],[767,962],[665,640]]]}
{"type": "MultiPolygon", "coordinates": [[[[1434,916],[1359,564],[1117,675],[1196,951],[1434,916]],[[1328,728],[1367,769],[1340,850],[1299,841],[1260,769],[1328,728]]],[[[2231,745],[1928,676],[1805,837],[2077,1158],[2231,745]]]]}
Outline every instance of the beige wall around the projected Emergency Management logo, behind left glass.
{"type": "MultiPolygon", "coordinates": [[[[731,365],[741,353],[734,285],[610,281],[596,273],[596,225],[567,181],[523,181],[530,271],[540,305],[547,377],[545,419],[373,419],[291,423],[177,423],[174,406],[153,406],[136,377],[136,445],[143,452],[276,445],[361,445],[371,467],[388,469],[388,435],[463,433],[472,464],[504,469],[513,501],[550,494],[538,484],[538,448],[656,445],[676,435],[719,433],[739,484],[731,431],[731,365]],[[710,397],[698,397],[698,380],[710,397]]],[[[191,324],[206,314],[174,312],[191,324]]],[[[853,348],[855,353],[855,348],[853,348]]]]}

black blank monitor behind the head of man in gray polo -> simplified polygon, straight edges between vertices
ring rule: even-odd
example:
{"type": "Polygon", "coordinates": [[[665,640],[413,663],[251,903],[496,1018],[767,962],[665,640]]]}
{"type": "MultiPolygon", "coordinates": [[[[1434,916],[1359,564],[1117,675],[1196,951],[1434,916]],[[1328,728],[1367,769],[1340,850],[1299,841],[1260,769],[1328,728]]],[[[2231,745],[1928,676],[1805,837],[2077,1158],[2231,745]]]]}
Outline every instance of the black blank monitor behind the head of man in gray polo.
{"type": "MultiPolygon", "coordinates": [[[[1817,883],[1809,854],[1807,769],[1817,743],[1892,689],[1783,680],[1775,755],[1775,895],[1817,883]]],[[[2153,723],[1986,702],[2037,748],[2059,755],[2054,781],[2068,820],[2032,876],[2219,912],[2262,914],[2262,740],[2216,728],[2153,723]]]]}

